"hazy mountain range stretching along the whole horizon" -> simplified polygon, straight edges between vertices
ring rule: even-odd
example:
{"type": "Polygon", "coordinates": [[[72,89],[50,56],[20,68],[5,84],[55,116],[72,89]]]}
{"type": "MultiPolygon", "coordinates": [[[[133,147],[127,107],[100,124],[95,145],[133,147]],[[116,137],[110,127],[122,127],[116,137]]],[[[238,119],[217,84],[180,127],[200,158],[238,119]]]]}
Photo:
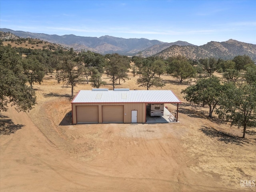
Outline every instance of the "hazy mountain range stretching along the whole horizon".
{"type": "Polygon", "coordinates": [[[74,48],[74,50],[91,50],[100,54],[118,53],[127,56],[161,56],[164,58],[180,54],[191,59],[214,57],[225,60],[245,54],[256,61],[255,44],[239,42],[232,39],[225,42],[211,41],[202,46],[196,46],[184,41],[167,43],[159,40],[148,40],[146,38],[125,39],[108,35],[97,38],[76,36],[73,34],[63,36],[49,35],[44,33],[15,31],[6,28],[0,28],[0,31],[10,32],[21,38],[37,38],[74,48]]]}

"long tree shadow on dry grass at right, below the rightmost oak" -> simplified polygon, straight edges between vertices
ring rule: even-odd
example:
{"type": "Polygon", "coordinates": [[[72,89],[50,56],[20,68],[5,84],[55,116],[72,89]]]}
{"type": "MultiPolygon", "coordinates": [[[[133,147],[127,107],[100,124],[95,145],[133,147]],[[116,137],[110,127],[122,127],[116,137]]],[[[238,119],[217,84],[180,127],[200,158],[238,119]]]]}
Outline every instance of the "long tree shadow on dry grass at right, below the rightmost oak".
{"type": "Polygon", "coordinates": [[[226,144],[231,143],[242,146],[250,144],[252,140],[256,142],[256,139],[234,136],[229,133],[216,130],[212,127],[202,126],[202,128],[199,130],[202,131],[206,136],[216,138],[218,141],[224,142],[226,144]]]}

